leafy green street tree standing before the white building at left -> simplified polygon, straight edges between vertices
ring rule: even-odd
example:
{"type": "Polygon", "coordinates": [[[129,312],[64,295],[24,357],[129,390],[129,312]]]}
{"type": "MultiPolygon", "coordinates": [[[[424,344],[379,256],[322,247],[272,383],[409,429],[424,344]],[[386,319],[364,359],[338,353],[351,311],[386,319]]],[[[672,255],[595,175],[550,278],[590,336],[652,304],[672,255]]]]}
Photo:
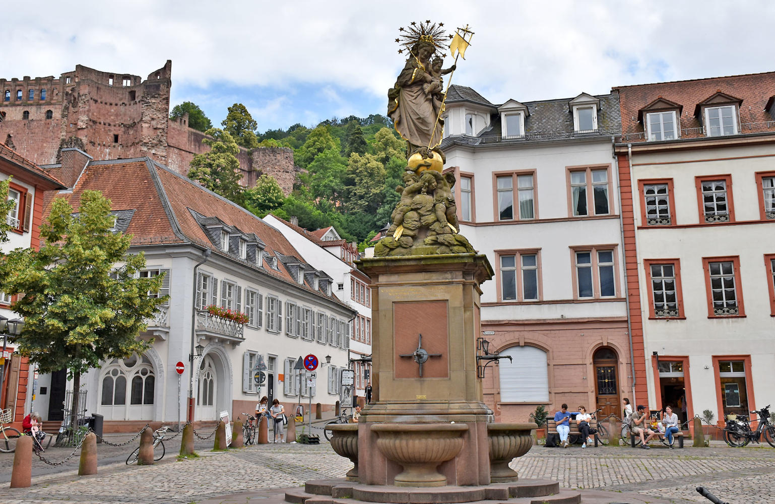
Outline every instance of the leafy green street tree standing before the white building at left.
{"type": "MultiPolygon", "coordinates": [[[[12,304],[25,321],[19,351],[41,372],[68,369],[75,391],[81,375],[101,361],[145,350],[140,331],[167,300],[149,295],[159,292],[161,276],[136,278],[145,257],[128,253],[131,237],[114,233],[114,223],[101,192],[84,191],[77,214],[57,198],[40,226],[43,247],[16,249],[0,261],[3,291],[20,295],[12,304]]],[[[75,426],[78,394],[71,411],[75,426]]]]}

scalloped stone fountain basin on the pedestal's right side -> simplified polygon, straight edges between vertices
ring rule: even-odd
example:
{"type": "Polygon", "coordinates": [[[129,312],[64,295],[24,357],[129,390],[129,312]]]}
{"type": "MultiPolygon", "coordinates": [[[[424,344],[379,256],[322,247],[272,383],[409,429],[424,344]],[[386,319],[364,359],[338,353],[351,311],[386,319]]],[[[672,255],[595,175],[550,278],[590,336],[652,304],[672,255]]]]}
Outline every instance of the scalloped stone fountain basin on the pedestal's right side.
{"type": "Polygon", "coordinates": [[[532,447],[535,423],[488,423],[487,443],[490,447],[490,481],[515,482],[517,472],[508,467],[515,457],[522,457],[532,447]]]}

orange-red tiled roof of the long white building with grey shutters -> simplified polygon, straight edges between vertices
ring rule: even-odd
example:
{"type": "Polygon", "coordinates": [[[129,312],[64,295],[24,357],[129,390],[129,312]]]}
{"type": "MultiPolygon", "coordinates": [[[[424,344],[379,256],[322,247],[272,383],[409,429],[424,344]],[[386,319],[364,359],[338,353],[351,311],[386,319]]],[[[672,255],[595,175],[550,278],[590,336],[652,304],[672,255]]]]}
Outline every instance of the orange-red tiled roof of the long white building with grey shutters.
{"type": "MultiPolygon", "coordinates": [[[[148,157],[131,160],[91,161],[81,174],[72,192],[56,194],[47,192],[44,201],[43,216],[48,216],[53,197],[67,198],[74,209],[81,202],[81,194],[89,189],[102,191],[111,200],[114,211],[133,210],[126,227],[126,233],[133,235],[133,246],[151,244],[195,243],[207,247],[213,254],[229,257],[234,261],[242,261],[246,266],[257,268],[232,254],[215,247],[205,230],[195,217],[194,212],[202,216],[215,216],[228,226],[233,226],[241,232],[255,233],[260,243],[265,245],[265,254],[278,257],[277,270],[272,268],[257,268],[274,278],[287,282],[298,288],[315,292],[341,306],[335,295],[326,295],[322,289],[314,289],[306,281],[299,284],[284,264],[291,257],[307,266],[304,258],[293,245],[274,227],[263,220],[230,202],[214,192],[208,191],[188,178],[169,170],[148,157]],[[126,181],[132,181],[127,184],[126,181]]],[[[126,216],[126,212],[121,212],[126,216]]]]}

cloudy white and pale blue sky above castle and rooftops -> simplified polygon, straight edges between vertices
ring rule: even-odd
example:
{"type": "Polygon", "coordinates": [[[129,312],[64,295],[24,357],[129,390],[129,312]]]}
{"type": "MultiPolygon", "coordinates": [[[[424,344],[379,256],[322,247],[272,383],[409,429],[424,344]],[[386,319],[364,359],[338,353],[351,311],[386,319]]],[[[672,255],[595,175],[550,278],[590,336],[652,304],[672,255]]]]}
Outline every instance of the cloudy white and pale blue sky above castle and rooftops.
{"type": "Polygon", "coordinates": [[[81,0],[77,9],[43,0],[31,9],[27,21],[2,23],[0,77],[58,76],[76,64],[146,77],[171,59],[172,105],[195,102],[218,124],[242,102],[260,132],[384,114],[404,64],[394,39],[413,20],[471,26],[453,83],[494,103],[775,70],[770,0],[81,0]]]}

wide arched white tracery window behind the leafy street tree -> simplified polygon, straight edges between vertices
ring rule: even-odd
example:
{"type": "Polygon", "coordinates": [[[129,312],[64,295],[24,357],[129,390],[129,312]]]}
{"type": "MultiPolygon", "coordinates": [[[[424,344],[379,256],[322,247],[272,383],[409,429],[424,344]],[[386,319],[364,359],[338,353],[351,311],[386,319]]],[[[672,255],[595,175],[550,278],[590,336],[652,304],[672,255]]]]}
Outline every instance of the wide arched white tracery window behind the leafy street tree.
{"type": "Polygon", "coordinates": [[[99,413],[106,420],[153,420],[156,373],[145,355],[113,359],[102,368],[99,413]]]}

